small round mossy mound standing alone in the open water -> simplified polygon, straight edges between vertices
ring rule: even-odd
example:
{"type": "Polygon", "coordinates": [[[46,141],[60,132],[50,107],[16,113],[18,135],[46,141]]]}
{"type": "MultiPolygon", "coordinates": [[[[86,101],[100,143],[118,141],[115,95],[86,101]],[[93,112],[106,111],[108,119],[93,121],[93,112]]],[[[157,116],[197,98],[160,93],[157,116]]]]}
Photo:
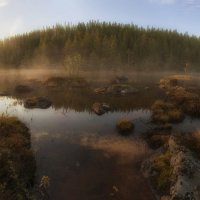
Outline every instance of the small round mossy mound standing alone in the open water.
{"type": "Polygon", "coordinates": [[[121,119],[117,122],[117,130],[122,135],[130,134],[134,129],[134,124],[128,119],[121,119]]]}

